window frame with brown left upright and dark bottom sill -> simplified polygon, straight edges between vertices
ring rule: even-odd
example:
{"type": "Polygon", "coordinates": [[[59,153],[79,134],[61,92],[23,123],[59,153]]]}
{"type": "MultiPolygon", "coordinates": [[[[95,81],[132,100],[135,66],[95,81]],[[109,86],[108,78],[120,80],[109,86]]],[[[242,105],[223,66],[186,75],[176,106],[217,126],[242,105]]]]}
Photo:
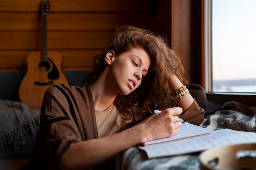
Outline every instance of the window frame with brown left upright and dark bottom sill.
{"type": "Polygon", "coordinates": [[[255,93],[226,93],[211,92],[212,67],[211,67],[211,4],[212,0],[202,0],[202,85],[204,86],[207,99],[219,104],[235,101],[249,106],[256,106],[255,93]]]}

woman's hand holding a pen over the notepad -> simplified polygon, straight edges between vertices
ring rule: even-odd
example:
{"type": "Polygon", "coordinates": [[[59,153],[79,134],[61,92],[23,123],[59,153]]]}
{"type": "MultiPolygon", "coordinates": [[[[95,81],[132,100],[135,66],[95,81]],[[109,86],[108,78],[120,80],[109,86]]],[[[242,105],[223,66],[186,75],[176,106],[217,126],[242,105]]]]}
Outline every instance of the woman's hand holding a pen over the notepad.
{"type": "Polygon", "coordinates": [[[159,114],[148,117],[141,123],[145,129],[144,141],[171,137],[180,131],[182,122],[178,121],[178,116],[182,113],[182,108],[167,108],[159,114]]]}

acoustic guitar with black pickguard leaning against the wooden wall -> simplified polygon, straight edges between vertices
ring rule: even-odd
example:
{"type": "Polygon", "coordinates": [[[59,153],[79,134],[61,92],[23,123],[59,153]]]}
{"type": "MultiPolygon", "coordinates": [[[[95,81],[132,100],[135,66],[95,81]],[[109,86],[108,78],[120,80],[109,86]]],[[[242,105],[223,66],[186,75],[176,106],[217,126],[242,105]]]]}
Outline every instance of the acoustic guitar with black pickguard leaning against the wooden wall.
{"type": "Polygon", "coordinates": [[[27,73],[19,87],[20,101],[34,108],[41,108],[47,88],[53,84],[68,84],[61,71],[61,54],[47,51],[47,13],[50,7],[49,1],[40,3],[41,51],[31,52],[27,56],[27,73]]]}

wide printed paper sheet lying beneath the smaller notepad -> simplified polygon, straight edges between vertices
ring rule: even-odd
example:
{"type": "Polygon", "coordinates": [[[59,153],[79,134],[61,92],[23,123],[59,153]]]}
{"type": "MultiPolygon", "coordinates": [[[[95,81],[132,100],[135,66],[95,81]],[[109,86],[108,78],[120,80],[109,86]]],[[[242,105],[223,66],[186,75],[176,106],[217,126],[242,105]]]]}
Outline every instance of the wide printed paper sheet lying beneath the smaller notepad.
{"type": "Polygon", "coordinates": [[[148,158],[151,159],[199,152],[216,146],[247,144],[255,142],[255,132],[221,129],[213,131],[209,135],[196,136],[160,144],[139,146],[138,148],[146,151],[148,158]]]}

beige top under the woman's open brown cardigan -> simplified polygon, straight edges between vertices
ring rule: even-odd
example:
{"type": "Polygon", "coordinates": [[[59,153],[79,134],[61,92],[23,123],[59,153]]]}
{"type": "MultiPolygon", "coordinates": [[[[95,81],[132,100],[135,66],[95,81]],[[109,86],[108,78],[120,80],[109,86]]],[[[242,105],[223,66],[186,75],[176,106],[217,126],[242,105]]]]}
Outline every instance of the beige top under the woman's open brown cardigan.
{"type": "Polygon", "coordinates": [[[114,134],[121,124],[119,110],[113,104],[104,111],[95,110],[95,117],[99,137],[114,134]]]}

